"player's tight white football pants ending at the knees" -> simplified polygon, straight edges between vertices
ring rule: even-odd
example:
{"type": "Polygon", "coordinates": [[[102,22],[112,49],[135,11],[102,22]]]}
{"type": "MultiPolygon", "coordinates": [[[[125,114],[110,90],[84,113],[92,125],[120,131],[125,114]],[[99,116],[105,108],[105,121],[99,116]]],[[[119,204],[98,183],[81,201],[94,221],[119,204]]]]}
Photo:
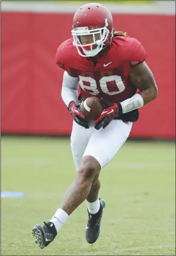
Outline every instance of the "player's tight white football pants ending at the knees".
{"type": "Polygon", "coordinates": [[[79,169],[84,156],[93,156],[101,168],[107,165],[127,140],[132,124],[112,120],[105,129],[96,130],[93,126],[85,129],[74,121],[71,150],[76,169],[79,169]]]}

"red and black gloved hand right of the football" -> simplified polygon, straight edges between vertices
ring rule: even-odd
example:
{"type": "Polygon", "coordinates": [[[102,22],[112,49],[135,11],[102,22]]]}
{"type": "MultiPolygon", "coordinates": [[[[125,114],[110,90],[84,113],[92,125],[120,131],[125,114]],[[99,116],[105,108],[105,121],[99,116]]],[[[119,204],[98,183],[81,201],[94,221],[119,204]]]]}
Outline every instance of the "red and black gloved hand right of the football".
{"type": "Polygon", "coordinates": [[[111,103],[104,98],[101,98],[101,103],[104,106],[104,110],[102,111],[99,118],[95,120],[95,129],[99,130],[101,128],[105,128],[108,124],[119,115],[119,108],[117,103],[111,103]]]}

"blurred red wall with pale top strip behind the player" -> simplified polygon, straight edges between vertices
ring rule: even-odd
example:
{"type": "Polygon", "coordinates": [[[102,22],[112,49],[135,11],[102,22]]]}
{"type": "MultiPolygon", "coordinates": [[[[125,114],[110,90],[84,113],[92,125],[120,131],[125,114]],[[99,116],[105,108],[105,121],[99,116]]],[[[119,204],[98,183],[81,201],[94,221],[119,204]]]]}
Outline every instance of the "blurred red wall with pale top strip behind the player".
{"type": "MultiPolygon", "coordinates": [[[[63,70],[55,64],[71,37],[81,1],[2,2],[1,132],[69,135],[72,117],[61,100],[63,70]],[[58,109],[63,109],[60,116],[58,109]]],[[[175,2],[104,2],[114,27],[136,37],[148,54],[159,97],[140,109],[131,138],[175,138],[175,2]],[[130,2],[130,4],[129,4],[130,2]],[[149,123],[149,125],[146,125],[149,123]]]]}

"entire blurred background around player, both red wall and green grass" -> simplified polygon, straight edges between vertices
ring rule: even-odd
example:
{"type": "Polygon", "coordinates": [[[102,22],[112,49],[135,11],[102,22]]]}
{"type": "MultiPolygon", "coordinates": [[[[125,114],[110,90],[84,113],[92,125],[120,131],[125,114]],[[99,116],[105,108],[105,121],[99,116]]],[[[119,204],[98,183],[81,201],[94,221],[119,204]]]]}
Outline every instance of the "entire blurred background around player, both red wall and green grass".
{"type": "Polygon", "coordinates": [[[98,1],[144,46],[159,96],[101,173],[98,242],[84,239],[84,203],[45,251],[31,236],[75,176],[55,53],[86,2],[1,1],[2,255],[175,255],[175,1],[98,1]]]}

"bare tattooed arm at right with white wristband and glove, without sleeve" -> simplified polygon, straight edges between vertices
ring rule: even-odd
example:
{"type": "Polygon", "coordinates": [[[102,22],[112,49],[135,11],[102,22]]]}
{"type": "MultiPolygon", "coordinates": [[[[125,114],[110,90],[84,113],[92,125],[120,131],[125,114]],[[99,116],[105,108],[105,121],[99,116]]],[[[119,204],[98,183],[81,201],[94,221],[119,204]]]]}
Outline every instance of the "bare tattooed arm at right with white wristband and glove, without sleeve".
{"type": "Polygon", "coordinates": [[[154,76],[145,62],[135,66],[129,74],[129,79],[138,89],[139,93],[127,98],[118,104],[108,103],[102,99],[105,112],[95,120],[95,129],[105,128],[113,118],[128,113],[134,109],[139,109],[144,104],[149,103],[157,97],[158,89],[154,76]]]}

